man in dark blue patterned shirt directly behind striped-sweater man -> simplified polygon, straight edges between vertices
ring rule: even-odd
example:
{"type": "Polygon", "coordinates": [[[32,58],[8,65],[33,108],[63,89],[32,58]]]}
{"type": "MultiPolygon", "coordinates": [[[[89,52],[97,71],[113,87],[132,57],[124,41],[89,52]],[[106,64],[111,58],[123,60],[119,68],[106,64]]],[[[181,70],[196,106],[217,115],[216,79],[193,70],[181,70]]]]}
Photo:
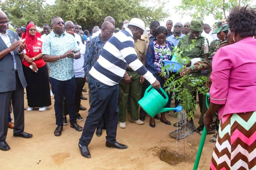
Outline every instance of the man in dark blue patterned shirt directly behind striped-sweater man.
{"type": "MultiPolygon", "coordinates": [[[[95,62],[98,60],[100,53],[102,52],[103,46],[109,40],[109,38],[112,37],[114,32],[114,25],[110,23],[109,21],[105,21],[102,23],[101,26],[101,33],[90,39],[86,46],[85,51],[85,59],[84,59],[84,68],[86,69],[86,74],[88,77],[89,71],[92,68],[92,66],[95,64],[95,62]]],[[[88,79],[88,82],[90,80],[88,79]]],[[[89,105],[91,106],[91,89],[88,87],[89,92],[89,105]]],[[[99,124],[97,125],[96,135],[101,136],[102,135],[102,128],[104,127],[104,120],[103,117],[101,118],[99,124]]]]}

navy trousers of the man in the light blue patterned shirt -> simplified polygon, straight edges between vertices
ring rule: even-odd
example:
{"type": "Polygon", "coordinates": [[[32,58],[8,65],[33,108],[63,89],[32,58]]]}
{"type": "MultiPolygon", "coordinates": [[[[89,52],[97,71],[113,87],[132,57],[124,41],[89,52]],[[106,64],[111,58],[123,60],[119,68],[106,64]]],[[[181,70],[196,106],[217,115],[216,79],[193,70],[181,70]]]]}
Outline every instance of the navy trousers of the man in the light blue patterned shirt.
{"type": "Polygon", "coordinates": [[[63,96],[67,100],[67,112],[69,113],[70,124],[77,123],[75,109],[76,81],[75,77],[66,81],[49,78],[51,90],[54,93],[54,110],[56,125],[63,126],[63,96]]]}

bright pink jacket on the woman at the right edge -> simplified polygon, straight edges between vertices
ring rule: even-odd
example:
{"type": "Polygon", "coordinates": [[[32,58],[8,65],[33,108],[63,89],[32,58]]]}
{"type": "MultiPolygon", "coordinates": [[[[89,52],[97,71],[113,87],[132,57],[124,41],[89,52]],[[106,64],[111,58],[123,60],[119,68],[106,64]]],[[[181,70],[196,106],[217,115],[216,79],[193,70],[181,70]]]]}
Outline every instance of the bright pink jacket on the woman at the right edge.
{"type": "Polygon", "coordinates": [[[211,102],[225,114],[256,111],[256,40],[252,37],[221,47],[212,60],[211,102]]]}

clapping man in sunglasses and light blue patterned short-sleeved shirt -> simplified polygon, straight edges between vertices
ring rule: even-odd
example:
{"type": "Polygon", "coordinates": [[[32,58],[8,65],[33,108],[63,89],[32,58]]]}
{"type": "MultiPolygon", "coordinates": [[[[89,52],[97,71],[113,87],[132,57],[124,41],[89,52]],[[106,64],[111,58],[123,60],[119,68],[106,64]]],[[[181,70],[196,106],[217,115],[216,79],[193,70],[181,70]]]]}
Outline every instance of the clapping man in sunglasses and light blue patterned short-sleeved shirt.
{"type": "Polygon", "coordinates": [[[63,129],[63,96],[67,100],[70,127],[77,131],[83,128],[77,124],[75,114],[76,82],[74,77],[74,59],[80,58],[80,49],[75,38],[64,32],[64,21],[56,16],[51,20],[53,31],[47,35],[42,46],[42,54],[50,69],[51,89],[54,93],[54,110],[56,118],[55,136],[60,136],[63,129]]]}

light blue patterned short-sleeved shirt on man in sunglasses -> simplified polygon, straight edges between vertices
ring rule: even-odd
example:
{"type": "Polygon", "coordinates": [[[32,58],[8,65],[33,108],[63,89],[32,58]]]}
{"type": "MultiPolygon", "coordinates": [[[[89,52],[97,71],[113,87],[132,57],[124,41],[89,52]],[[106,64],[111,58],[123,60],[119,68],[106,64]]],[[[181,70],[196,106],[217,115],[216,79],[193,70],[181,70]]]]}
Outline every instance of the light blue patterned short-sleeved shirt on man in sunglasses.
{"type": "MultiPolygon", "coordinates": [[[[42,55],[62,55],[68,50],[79,51],[77,41],[69,33],[63,33],[59,37],[53,31],[46,36],[42,45],[42,55]]],[[[63,58],[54,62],[48,62],[50,77],[66,81],[74,77],[73,58],[63,58]]]]}

